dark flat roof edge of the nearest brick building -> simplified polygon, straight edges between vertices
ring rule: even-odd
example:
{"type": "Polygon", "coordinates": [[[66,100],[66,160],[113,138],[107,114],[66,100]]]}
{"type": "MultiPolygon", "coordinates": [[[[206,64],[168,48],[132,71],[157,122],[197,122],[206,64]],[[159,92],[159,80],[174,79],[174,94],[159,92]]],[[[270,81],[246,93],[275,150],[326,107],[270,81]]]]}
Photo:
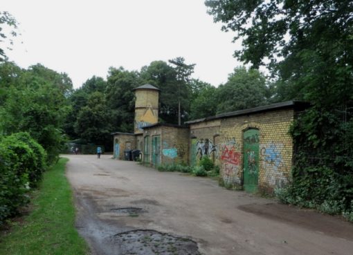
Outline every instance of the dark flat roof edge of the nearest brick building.
{"type": "Polygon", "coordinates": [[[221,119],[224,117],[235,117],[235,116],[239,116],[239,115],[262,113],[265,111],[275,111],[275,110],[280,110],[282,108],[294,108],[296,110],[302,110],[302,109],[309,107],[309,105],[310,104],[308,102],[300,102],[300,101],[280,102],[280,103],[275,103],[275,104],[268,104],[265,106],[258,106],[255,108],[248,108],[248,109],[239,110],[239,111],[232,111],[229,113],[221,113],[221,114],[217,114],[215,116],[203,117],[202,119],[190,120],[188,122],[185,122],[185,124],[194,124],[194,123],[205,122],[205,121],[210,121],[210,120],[217,120],[217,119],[221,119]]]}

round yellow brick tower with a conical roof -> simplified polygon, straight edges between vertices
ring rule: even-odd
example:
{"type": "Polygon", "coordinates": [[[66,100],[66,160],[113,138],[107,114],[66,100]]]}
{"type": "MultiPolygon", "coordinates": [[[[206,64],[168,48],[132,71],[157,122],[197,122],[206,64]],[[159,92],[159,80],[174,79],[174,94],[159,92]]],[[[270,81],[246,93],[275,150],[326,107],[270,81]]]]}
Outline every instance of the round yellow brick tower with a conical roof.
{"type": "Polygon", "coordinates": [[[144,126],[158,122],[160,90],[150,84],[145,84],[135,88],[134,91],[136,95],[134,133],[143,133],[144,126]]]}

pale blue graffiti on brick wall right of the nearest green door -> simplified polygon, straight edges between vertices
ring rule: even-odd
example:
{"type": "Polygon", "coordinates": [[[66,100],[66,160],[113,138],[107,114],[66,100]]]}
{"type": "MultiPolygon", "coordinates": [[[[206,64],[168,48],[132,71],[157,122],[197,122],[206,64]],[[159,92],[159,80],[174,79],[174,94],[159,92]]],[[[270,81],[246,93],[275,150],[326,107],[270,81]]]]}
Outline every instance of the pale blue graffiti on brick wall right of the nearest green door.
{"type": "Polygon", "coordinates": [[[284,145],[269,142],[261,145],[264,176],[270,185],[282,187],[287,183],[286,169],[283,164],[284,145]]]}

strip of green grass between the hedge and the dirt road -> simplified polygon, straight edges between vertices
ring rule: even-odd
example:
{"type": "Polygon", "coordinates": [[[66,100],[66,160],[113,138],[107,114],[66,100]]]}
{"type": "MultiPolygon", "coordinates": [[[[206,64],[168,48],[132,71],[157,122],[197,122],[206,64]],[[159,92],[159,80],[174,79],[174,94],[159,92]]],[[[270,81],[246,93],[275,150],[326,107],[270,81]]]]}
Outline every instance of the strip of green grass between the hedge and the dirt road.
{"type": "Polygon", "coordinates": [[[0,234],[0,254],[85,255],[88,245],[75,229],[75,207],[71,187],[65,177],[61,158],[44,173],[35,191],[28,216],[12,223],[10,232],[0,234]]]}

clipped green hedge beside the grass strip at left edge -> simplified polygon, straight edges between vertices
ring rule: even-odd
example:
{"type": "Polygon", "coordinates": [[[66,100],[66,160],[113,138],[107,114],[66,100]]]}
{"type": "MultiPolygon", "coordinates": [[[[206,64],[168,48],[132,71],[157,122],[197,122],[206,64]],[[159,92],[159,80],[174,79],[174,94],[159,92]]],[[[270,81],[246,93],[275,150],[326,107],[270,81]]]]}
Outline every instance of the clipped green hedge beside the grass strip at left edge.
{"type": "Polygon", "coordinates": [[[29,202],[27,192],[42,180],[46,153],[28,133],[0,139],[0,225],[29,202]]]}

